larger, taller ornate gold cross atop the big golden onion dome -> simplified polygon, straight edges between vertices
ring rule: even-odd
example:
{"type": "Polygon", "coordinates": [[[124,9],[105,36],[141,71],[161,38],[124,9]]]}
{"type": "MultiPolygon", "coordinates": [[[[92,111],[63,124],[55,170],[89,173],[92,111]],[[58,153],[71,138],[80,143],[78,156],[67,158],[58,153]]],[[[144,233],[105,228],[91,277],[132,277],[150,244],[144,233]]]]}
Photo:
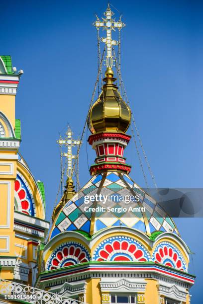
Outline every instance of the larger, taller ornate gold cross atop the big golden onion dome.
{"type": "Polygon", "coordinates": [[[112,18],[114,15],[114,12],[111,11],[109,3],[106,11],[103,13],[105,15],[105,18],[102,17],[102,21],[97,17],[97,21],[93,23],[93,25],[96,26],[97,30],[102,27],[103,30],[106,30],[106,37],[101,38],[101,41],[106,44],[106,66],[107,68],[112,68],[113,66],[113,56],[112,56],[112,46],[117,45],[118,41],[111,39],[111,32],[112,30],[115,31],[115,28],[117,28],[119,31],[122,27],[125,26],[125,24],[121,21],[121,17],[116,22],[115,19],[112,18]]]}

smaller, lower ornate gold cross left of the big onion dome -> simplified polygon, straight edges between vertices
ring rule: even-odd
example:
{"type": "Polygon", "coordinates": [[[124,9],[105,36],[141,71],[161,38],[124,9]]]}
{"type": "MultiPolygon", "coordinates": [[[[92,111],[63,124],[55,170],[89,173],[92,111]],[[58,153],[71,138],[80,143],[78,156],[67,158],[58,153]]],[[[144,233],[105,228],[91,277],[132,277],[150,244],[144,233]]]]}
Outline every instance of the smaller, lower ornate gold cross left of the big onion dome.
{"type": "MultiPolygon", "coordinates": [[[[72,168],[72,159],[77,158],[76,155],[72,154],[72,148],[75,146],[79,146],[80,145],[80,140],[74,140],[72,138],[73,132],[71,130],[70,127],[68,127],[68,130],[66,132],[66,138],[62,139],[60,137],[60,139],[57,141],[57,143],[60,145],[61,148],[61,166],[62,166],[62,156],[65,156],[67,158],[67,171],[66,171],[66,175],[67,177],[72,177],[73,175],[73,168],[72,168]],[[62,152],[62,146],[67,147],[67,152],[62,152]]],[[[63,175],[63,174],[62,174],[63,175]]]]}

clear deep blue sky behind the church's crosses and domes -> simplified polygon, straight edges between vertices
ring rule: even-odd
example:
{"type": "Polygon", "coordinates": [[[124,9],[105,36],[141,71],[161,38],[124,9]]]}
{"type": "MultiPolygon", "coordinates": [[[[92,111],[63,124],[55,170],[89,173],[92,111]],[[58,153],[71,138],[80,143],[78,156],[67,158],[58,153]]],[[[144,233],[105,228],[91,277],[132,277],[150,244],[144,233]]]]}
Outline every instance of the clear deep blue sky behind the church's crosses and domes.
{"type": "MultiPolygon", "coordinates": [[[[111,3],[127,24],[122,30],[122,77],[157,184],[202,187],[203,1],[111,3]]],[[[1,0],[0,54],[11,55],[13,66],[24,70],[16,96],[16,118],[22,124],[20,152],[35,178],[44,181],[47,219],[60,181],[56,140],[67,124],[76,137],[82,132],[97,76],[92,22],[94,13],[102,16],[106,5],[107,1],[93,0],[1,0]]],[[[131,177],[144,186],[132,141],[125,155],[133,166],[131,177]]],[[[94,157],[88,147],[89,163],[94,157]]],[[[89,178],[85,136],[81,185],[89,178]]],[[[176,219],[176,223],[196,253],[190,267],[197,275],[191,294],[192,304],[199,304],[203,219],[176,219]]]]}

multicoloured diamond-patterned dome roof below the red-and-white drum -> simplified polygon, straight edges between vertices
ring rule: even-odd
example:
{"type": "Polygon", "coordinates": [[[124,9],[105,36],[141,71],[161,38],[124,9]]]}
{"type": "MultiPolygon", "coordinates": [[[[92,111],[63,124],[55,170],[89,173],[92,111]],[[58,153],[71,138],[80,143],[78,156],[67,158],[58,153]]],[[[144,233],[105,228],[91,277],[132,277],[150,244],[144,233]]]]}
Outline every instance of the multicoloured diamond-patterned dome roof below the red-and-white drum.
{"type": "Polygon", "coordinates": [[[51,238],[65,230],[80,230],[93,235],[103,228],[116,226],[134,228],[148,236],[154,231],[179,234],[173,220],[152,197],[135,184],[128,175],[113,171],[94,175],[71,201],[67,202],[53,224],[51,238]],[[87,196],[97,194],[110,195],[111,200],[106,199],[105,204],[103,204],[103,199],[85,203],[87,196]],[[129,211],[125,202],[119,199],[112,200],[112,196],[120,198],[130,195],[139,195],[140,200],[138,203],[134,202],[133,207],[145,207],[145,211],[129,211]],[[114,210],[107,211],[108,206],[114,210]],[[96,211],[90,210],[97,207],[101,208],[96,211]],[[105,208],[102,209],[102,207],[105,208]]]}

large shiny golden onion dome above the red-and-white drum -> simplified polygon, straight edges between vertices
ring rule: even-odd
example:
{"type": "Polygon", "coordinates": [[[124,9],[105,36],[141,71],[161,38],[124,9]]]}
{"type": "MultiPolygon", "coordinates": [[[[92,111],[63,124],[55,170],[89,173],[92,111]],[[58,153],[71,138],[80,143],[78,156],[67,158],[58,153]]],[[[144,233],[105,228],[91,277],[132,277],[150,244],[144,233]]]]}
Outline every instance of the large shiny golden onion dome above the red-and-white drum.
{"type": "Polygon", "coordinates": [[[102,87],[102,93],[93,104],[89,116],[89,129],[95,133],[121,132],[125,133],[131,120],[131,112],[127,104],[122,100],[118,88],[113,82],[113,71],[107,68],[105,72],[106,83],[102,87]]]}

